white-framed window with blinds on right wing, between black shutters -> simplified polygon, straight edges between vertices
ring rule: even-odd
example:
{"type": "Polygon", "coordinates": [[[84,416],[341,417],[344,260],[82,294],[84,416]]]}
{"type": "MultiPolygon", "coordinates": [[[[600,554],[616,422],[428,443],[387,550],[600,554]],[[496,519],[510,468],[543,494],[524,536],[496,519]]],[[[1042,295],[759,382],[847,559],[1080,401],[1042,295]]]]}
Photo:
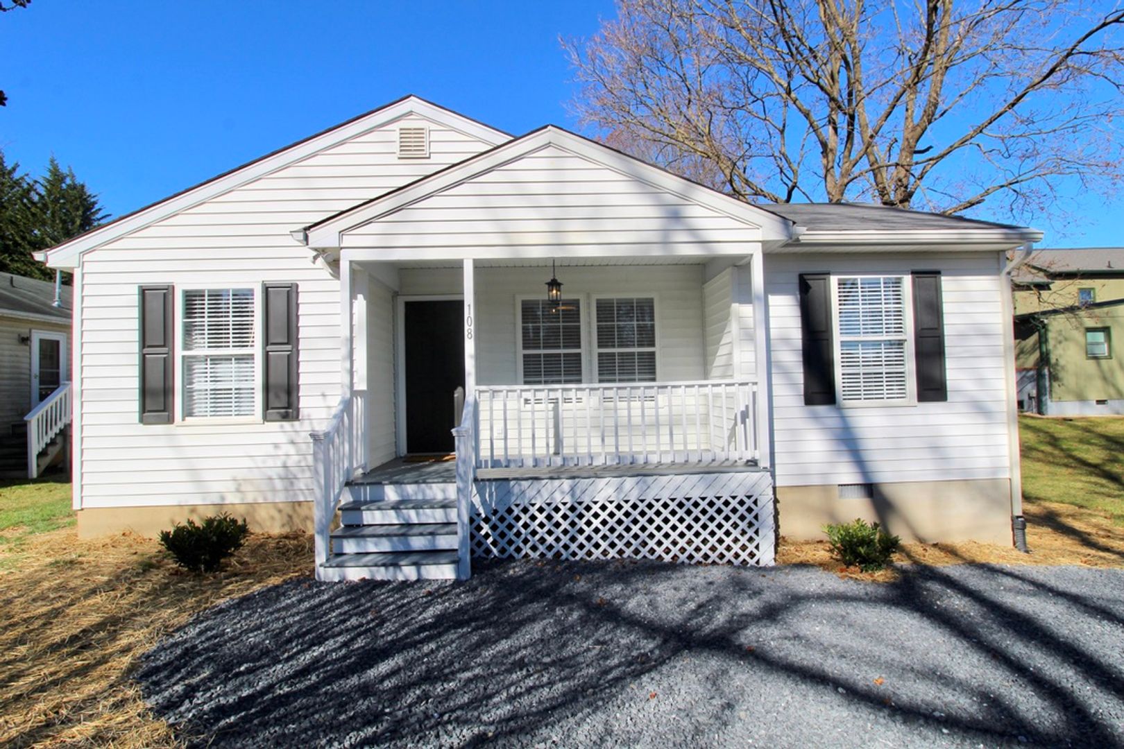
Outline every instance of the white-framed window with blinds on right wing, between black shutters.
{"type": "Polygon", "coordinates": [[[905,276],[835,276],[843,403],[909,398],[905,276]]]}

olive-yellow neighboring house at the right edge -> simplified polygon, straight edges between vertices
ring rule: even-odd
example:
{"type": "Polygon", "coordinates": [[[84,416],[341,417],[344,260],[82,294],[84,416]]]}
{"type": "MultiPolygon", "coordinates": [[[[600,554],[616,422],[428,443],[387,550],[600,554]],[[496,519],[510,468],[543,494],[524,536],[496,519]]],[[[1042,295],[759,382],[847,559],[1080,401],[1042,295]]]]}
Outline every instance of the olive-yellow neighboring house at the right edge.
{"type": "Polygon", "coordinates": [[[1124,248],[1036,249],[1012,281],[1019,408],[1124,413],[1124,248]]]}

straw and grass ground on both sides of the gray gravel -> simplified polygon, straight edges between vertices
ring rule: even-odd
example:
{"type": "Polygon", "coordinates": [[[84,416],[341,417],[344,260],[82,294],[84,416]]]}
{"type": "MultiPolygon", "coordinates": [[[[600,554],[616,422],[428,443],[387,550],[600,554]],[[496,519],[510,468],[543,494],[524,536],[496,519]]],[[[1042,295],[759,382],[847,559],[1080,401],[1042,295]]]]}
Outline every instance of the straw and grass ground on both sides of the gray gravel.
{"type": "MultiPolygon", "coordinates": [[[[1021,426],[1034,554],[907,544],[900,561],[1124,565],[1124,419],[1021,426]]],[[[129,678],[137,659],[225,599],[310,577],[311,561],[307,535],[253,535],[220,574],[190,575],[153,539],[79,539],[69,484],[0,484],[0,746],[178,746],[183,737],[151,713],[129,678]]],[[[886,578],[832,567],[823,542],[782,542],[779,561],[886,578]]]]}

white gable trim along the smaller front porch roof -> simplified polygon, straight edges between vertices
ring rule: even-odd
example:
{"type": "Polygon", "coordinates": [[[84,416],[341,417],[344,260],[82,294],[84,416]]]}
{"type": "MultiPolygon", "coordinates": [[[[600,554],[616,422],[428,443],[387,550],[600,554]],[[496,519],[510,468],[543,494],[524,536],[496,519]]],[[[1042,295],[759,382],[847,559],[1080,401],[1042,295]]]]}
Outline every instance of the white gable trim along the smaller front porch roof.
{"type": "Polygon", "coordinates": [[[401,188],[294,230],[293,238],[315,249],[339,247],[341,235],[348,229],[377,220],[428,195],[550,146],[665,190],[755,228],[761,228],[765,232],[765,239],[779,240],[791,236],[792,222],[767,208],[743,202],[556,125],[546,125],[401,188]]]}

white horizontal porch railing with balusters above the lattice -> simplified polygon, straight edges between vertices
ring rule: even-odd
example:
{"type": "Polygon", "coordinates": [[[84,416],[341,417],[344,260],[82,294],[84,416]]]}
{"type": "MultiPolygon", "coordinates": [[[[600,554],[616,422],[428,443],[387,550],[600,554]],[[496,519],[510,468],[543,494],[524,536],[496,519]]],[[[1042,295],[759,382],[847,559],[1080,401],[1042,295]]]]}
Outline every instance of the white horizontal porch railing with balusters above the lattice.
{"type": "Polygon", "coordinates": [[[753,381],[478,385],[475,398],[482,468],[760,458],[753,381]]]}

